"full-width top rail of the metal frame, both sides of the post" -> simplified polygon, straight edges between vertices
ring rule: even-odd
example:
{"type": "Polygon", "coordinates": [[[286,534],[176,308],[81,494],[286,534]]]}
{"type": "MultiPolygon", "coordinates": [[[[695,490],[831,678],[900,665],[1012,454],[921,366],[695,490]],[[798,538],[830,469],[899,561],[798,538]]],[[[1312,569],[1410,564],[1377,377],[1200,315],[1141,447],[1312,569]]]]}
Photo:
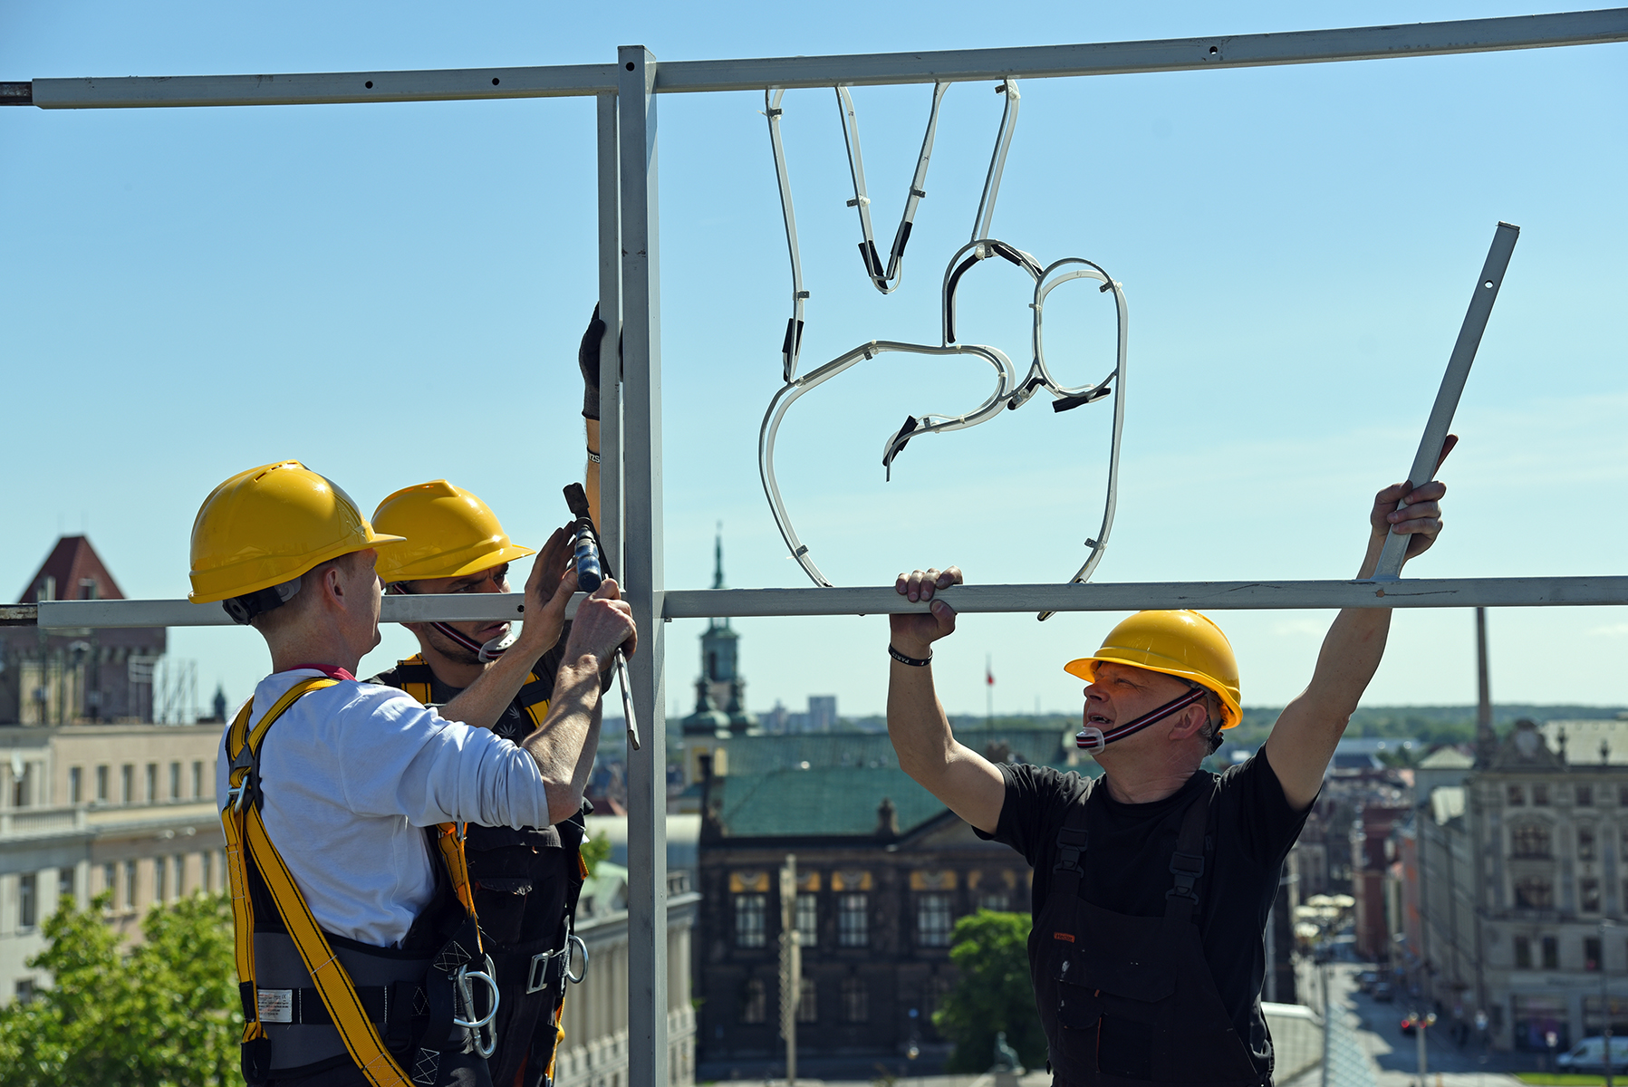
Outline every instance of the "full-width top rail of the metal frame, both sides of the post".
{"type": "MultiPolygon", "coordinates": [[[[667,60],[658,65],[653,89],[672,94],[762,91],[765,86],[1037,80],[1382,60],[1389,57],[1446,57],[1621,41],[1628,41],[1628,8],[1602,8],[1283,34],[1218,34],[1136,42],[834,57],[667,60]]],[[[33,83],[0,85],[5,88],[5,93],[0,94],[0,104],[31,104],[41,109],[122,109],[562,98],[615,93],[619,75],[622,73],[617,65],[581,63],[423,72],[42,78],[33,83]]]]}

